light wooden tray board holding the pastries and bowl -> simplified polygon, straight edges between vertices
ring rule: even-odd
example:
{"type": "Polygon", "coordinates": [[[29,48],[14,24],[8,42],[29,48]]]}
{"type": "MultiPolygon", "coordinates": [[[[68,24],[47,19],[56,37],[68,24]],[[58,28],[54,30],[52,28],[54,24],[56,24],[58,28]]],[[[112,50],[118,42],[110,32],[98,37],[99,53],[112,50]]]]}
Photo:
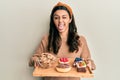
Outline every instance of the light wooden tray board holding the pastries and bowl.
{"type": "MultiPolygon", "coordinates": [[[[74,59],[73,58],[69,58],[70,60],[70,64],[72,66],[74,59]]],[[[55,67],[58,65],[58,61],[56,61],[56,63],[48,69],[43,69],[40,67],[36,67],[33,71],[33,76],[36,77],[47,77],[47,76],[51,76],[51,77],[80,77],[80,78],[92,78],[94,77],[92,71],[89,69],[89,67],[86,67],[86,72],[77,72],[75,67],[72,67],[72,69],[69,72],[66,73],[60,73],[57,72],[55,67]]]]}

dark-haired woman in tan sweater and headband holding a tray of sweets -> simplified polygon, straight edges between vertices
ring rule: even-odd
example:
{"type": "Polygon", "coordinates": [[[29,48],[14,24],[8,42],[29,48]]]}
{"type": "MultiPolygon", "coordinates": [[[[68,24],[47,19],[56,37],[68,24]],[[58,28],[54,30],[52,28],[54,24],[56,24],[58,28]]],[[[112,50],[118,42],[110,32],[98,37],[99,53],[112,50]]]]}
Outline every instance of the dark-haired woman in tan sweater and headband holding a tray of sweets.
{"type": "MultiPolygon", "coordinates": [[[[92,70],[95,69],[85,38],[77,34],[72,9],[61,2],[55,5],[52,10],[49,35],[44,36],[41,40],[36,53],[30,60],[31,66],[39,66],[37,55],[41,53],[53,53],[57,57],[81,57],[88,61],[92,70]]],[[[46,77],[44,79],[80,80],[78,77],[46,77]]]]}

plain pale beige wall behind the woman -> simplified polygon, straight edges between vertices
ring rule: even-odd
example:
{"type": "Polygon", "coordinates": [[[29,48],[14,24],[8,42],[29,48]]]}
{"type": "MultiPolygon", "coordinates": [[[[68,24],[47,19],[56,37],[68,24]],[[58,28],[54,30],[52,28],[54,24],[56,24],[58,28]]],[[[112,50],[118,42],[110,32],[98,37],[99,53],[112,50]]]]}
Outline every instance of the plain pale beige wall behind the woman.
{"type": "MultiPolygon", "coordinates": [[[[49,16],[60,0],[0,0],[0,80],[39,80],[28,61],[48,32],[49,16]]],[[[97,70],[83,80],[120,80],[120,1],[61,0],[74,12],[97,70]]]]}

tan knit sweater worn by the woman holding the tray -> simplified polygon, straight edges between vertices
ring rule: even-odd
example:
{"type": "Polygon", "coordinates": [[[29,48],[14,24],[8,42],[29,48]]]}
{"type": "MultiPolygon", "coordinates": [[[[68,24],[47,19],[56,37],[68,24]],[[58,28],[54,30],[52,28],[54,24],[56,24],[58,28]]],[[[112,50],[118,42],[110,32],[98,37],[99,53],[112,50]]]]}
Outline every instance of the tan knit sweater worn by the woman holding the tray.
{"type": "MultiPolygon", "coordinates": [[[[78,52],[69,52],[69,47],[66,42],[62,42],[62,45],[58,51],[57,57],[82,57],[84,59],[91,58],[90,52],[87,46],[87,42],[84,36],[80,36],[80,43],[78,52]]],[[[33,56],[37,56],[41,53],[47,52],[47,45],[48,45],[48,35],[44,36],[38,46],[35,54],[33,56]]],[[[33,65],[32,58],[30,59],[30,65],[33,65]]],[[[44,80],[80,80],[80,78],[76,77],[45,77],[44,80]]]]}

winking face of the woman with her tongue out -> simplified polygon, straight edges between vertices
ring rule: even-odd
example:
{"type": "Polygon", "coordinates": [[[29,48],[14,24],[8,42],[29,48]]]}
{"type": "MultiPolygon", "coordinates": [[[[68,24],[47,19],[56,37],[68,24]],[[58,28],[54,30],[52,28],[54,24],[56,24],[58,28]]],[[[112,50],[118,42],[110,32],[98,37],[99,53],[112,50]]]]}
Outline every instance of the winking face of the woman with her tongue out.
{"type": "Polygon", "coordinates": [[[71,22],[71,19],[67,11],[57,10],[53,15],[53,21],[57,30],[60,33],[68,32],[69,23],[71,22]]]}

